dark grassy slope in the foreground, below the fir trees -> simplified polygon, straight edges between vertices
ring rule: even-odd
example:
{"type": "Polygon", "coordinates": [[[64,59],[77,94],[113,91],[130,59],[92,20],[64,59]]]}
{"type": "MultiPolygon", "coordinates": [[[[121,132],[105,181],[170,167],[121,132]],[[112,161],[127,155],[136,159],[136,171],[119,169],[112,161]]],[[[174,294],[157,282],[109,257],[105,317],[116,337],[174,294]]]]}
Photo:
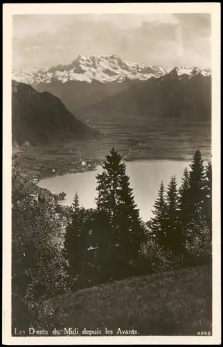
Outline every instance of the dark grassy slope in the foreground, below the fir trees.
{"type": "Polygon", "coordinates": [[[99,328],[104,335],[106,327],[114,335],[117,328],[140,335],[197,335],[211,331],[211,266],[82,289],[46,301],[44,309],[52,313],[54,327],[79,328],[79,334],[99,328]]]}

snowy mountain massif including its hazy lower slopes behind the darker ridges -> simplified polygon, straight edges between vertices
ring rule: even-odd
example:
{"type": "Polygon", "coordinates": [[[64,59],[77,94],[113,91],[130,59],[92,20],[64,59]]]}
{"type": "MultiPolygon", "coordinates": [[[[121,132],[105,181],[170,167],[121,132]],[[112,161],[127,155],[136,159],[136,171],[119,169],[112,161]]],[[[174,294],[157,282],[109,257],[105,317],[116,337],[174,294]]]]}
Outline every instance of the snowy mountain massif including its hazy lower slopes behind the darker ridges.
{"type": "MultiPolygon", "coordinates": [[[[136,62],[118,56],[78,56],[69,65],[51,68],[13,70],[15,81],[32,85],[38,92],[50,92],[61,99],[71,113],[98,103],[108,96],[124,92],[133,85],[157,79],[172,69],[136,62]]],[[[210,76],[209,69],[179,67],[178,75],[193,76],[197,71],[210,76]]]]}

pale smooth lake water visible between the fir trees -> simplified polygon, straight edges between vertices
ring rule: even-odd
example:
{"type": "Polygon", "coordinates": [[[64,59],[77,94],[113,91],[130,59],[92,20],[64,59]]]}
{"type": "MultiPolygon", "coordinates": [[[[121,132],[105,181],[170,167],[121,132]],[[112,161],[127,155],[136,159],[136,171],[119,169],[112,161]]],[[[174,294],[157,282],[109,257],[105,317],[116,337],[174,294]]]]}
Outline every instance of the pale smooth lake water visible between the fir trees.
{"type": "MultiPolygon", "coordinates": [[[[163,180],[166,187],[170,177],[175,175],[179,185],[184,169],[189,164],[190,162],[180,160],[126,162],[126,173],[130,176],[130,187],[133,189],[135,202],[138,205],[143,221],[148,221],[152,217],[152,208],[157,198],[161,180],[163,180]]],[[[75,192],[78,192],[80,203],[84,208],[95,208],[94,200],[97,196],[96,175],[101,172],[102,167],[98,166],[95,171],[45,178],[40,180],[38,185],[55,194],[66,192],[67,199],[60,201],[61,205],[71,205],[75,192]]]]}

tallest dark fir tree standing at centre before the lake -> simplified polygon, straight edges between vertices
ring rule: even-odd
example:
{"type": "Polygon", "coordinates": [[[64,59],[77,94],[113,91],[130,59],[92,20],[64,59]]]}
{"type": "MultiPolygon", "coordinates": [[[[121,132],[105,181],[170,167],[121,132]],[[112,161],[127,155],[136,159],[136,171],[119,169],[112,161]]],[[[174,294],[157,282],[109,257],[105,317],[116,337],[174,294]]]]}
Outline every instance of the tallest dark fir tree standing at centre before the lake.
{"type": "Polygon", "coordinates": [[[104,171],[97,176],[97,209],[109,221],[106,245],[112,264],[109,278],[121,279],[137,271],[144,237],[143,223],[134,202],[130,179],[125,174],[125,162],[114,148],[102,167],[104,171]]]}

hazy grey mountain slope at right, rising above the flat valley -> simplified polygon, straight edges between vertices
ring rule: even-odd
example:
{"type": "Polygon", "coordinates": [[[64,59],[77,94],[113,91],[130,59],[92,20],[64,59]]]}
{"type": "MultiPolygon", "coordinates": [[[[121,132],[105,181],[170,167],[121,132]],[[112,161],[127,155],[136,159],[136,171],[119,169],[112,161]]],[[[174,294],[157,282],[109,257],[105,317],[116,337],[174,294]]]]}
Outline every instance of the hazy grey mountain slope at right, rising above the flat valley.
{"type": "Polygon", "coordinates": [[[211,76],[204,76],[199,69],[181,74],[175,68],[165,76],[141,81],[79,112],[79,117],[90,119],[94,125],[107,119],[127,121],[130,115],[211,120],[211,76]]]}

